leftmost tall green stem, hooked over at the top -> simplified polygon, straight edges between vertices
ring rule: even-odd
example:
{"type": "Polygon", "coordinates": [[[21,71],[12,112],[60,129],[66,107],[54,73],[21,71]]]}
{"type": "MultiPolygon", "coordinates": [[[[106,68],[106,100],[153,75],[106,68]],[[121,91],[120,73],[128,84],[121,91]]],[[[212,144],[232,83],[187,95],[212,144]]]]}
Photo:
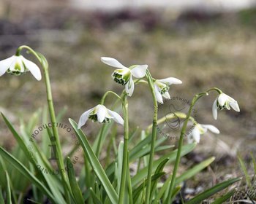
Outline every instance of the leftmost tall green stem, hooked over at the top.
{"type": "MultiPolygon", "coordinates": [[[[50,112],[50,121],[53,124],[56,124],[56,115],[55,115],[54,106],[53,106],[53,96],[52,96],[51,87],[50,87],[50,76],[49,76],[49,71],[48,71],[48,62],[43,55],[39,54],[38,52],[35,52],[34,50],[31,49],[31,47],[28,47],[26,45],[18,47],[16,55],[20,55],[20,51],[22,49],[29,50],[29,52],[31,52],[37,58],[37,60],[39,60],[39,62],[42,65],[42,68],[43,68],[44,74],[45,74],[45,85],[46,85],[48,108],[49,108],[49,112],[50,112]]],[[[53,125],[52,128],[53,128],[53,136],[55,138],[55,143],[56,143],[56,152],[54,152],[54,153],[56,154],[56,157],[58,158],[57,161],[58,161],[59,170],[61,172],[61,179],[64,183],[64,192],[65,192],[66,201],[67,201],[67,203],[70,203],[69,192],[71,192],[71,189],[67,182],[67,175],[65,173],[64,160],[63,160],[62,152],[61,152],[61,143],[59,140],[59,133],[58,133],[58,129],[57,129],[56,125],[53,125]]]]}

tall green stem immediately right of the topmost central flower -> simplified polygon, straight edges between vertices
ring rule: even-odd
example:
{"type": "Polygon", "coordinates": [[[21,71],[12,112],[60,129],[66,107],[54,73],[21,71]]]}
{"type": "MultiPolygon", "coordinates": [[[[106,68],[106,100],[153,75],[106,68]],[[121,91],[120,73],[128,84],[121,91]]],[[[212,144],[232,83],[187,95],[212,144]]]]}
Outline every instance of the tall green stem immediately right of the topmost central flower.
{"type": "Polygon", "coordinates": [[[154,82],[152,79],[151,74],[149,71],[146,71],[146,76],[148,79],[148,85],[150,87],[153,101],[154,101],[154,119],[153,119],[153,126],[152,126],[152,136],[151,136],[151,150],[149,154],[149,162],[148,162],[148,179],[147,179],[147,185],[146,185],[146,204],[151,203],[150,200],[150,192],[151,192],[151,176],[152,176],[152,167],[153,167],[153,161],[154,161],[154,146],[157,138],[157,111],[158,111],[158,105],[157,105],[157,98],[154,94],[154,82]]]}

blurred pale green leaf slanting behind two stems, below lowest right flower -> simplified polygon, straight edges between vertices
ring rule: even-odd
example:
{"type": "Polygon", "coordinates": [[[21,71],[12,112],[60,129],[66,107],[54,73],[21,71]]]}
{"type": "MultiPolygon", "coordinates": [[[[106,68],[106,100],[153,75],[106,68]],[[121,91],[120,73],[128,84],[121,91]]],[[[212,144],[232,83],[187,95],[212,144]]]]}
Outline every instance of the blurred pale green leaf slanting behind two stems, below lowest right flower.
{"type": "MultiPolygon", "coordinates": [[[[182,147],[181,149],[181,157],[184,156],[185,154],[191,152],[194,148],[195,148],[196,144],[187,144],[185,146],[182,147]]],[[[173,162],[176,160],[176,155],[177,155],[177,149],[174,150],[173,152],[169,152],[168,154],[165,154],[165,156],[162,156],[161,158],[159,158],[158,160],[155,160],[153,162],[153,168],[152,170],[156,170],[157,166],[165,159],[167,159],[168,157],[170,158],[170,160],[168,161],[168,163],[173,162]]],[[[147,176],[148,173],[148,168],[143,168],[141,169],[135,176],[132,177],[132,187],[134,188],[137,184],[140,183],[140,181],[143,181],[143,178],[145,178],[147,176]]]]}

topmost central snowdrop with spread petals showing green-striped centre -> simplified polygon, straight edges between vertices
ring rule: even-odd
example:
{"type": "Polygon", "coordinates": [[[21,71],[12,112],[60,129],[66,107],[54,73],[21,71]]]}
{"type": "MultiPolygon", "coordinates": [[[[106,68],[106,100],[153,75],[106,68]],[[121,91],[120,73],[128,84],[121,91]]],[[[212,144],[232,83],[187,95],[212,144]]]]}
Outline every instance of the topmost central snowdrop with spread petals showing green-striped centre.
{"type": "Polygon", "coordinates": [[[146,69],[148,68],[147,65],[134,65],[129,66],[128,68],[114,58],[102,57],[100,60],[102,63],[118,68],[113,72],[112,77],[118,84],[125,85],[125,91],[129,96],[132,96],[134,90],[132,76],[143,78],[146,75],[146,69]]]}

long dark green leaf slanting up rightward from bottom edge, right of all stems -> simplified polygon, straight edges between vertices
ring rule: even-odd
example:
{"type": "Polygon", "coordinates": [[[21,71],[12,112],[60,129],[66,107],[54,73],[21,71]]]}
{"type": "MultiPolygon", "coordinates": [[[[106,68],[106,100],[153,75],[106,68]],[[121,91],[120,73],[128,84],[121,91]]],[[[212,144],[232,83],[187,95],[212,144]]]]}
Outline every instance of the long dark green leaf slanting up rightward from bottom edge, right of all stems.
{"type": "Polygon", "coordinates": [[[198,204],[202,202],[203,200],[206,200],[206,198],[211,197],[211,195],[216,194],[217,192],[221,191],[222,189],[225,189],[229,187],[231,184],[236,183],[237,181],[240,181],[241,178],[233,178],[227,181],[224,181],[220,184],[215,185],[214,187],[211,187],[210,189],[207,189],[204,192],[201,192],[199,195],[196,195],[191,200],[187,202],[187,204],[198,204]]]}

